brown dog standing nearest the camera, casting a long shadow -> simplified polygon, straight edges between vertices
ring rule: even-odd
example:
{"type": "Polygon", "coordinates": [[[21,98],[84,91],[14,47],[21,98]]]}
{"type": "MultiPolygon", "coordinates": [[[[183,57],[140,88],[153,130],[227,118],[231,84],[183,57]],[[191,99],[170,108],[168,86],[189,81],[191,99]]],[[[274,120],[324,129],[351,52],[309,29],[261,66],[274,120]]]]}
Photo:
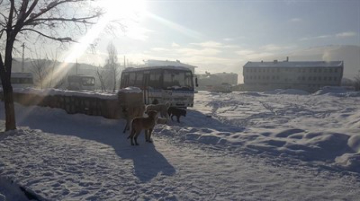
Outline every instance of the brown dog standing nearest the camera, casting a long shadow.
{"type": "Polygon", "coordinates": [[[131,140],[131,145],[139,145],[137,137],[140,135],[141,130],[145,130],[146,142],[152,143],[151,133],[157,121],[157,111],[148,111],[148,117],[135,117],[131,122],[131,131],[128,139],[131,140]],[[135,140],[135,144],[133,142],[135,140]]]}

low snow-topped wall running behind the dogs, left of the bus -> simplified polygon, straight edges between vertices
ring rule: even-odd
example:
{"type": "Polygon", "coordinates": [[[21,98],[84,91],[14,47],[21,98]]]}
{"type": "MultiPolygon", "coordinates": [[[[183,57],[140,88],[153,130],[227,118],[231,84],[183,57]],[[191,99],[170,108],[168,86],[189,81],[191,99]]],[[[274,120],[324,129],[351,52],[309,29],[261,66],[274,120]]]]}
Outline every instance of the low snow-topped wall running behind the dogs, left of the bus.
{"type": "MultiPolygon", "coordinates": [[[[123,118],[122,106],[117,95],[74,92],[36,93],[14,90],[14,102],[24,106],[61,108],[69,114],[87,114],[110,119],[123,118]]],[[[53,92],[53,90],[52,90],[53,92]]],[[[0,94],[3,100],[3,92],[0,94]]]]}

